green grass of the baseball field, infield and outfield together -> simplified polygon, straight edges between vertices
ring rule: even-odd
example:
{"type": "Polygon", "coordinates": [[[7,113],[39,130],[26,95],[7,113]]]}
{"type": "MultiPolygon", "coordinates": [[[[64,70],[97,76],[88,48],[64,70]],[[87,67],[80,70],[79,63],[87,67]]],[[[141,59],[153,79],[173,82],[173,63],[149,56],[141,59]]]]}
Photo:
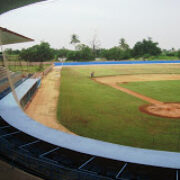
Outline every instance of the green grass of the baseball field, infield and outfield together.
{"type": "MultiPolygon", "coordinates": [[[[57,112],[59,122],[81,136],[135,147],[180,152],[180,119],[141,113],[139,106],[147,102],[96,83],[89,78],[92,71],[95,76],[180,74],[180,65],[63,68],[57,112]]],[[[179,81],[163,82],[138,82],[141,85],[135,82],[123,86],[158,100],[180,101],[179,81]]]]}

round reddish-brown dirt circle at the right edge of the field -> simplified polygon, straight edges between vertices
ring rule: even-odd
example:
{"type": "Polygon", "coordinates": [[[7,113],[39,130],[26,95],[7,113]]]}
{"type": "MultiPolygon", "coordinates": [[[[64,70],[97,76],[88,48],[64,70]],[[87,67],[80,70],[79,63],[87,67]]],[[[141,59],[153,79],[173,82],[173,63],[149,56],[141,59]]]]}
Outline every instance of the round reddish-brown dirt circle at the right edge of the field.
{"type": "Polygon", "coordinates": [[[139,109],[154,116],[180,118],[180,103],[148,104],[139,107],[139,109]]]}

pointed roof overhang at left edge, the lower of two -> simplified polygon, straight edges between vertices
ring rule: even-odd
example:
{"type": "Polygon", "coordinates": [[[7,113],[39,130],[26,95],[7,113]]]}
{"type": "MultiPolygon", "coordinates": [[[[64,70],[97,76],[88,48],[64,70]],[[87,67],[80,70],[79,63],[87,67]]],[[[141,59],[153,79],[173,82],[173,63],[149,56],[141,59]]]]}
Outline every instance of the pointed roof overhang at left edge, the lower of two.
{"type": "Polygon", "coordinates": [[[23,43],[34,41],[28,37],[17,34],[13,31],[0,27],[0,45],[23,43]]]}

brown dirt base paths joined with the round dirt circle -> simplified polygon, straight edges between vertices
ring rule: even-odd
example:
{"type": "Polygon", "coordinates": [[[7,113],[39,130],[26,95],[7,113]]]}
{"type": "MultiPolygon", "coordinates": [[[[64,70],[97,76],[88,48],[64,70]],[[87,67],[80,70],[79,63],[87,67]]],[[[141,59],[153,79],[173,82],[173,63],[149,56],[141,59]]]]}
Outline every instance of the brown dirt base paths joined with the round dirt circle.
{"type": "Polygon", "coordinates": [[[129,95],[135,96],[139,99],[147,101],[148,105],[139,107],[141,112],[145,112],[150,115],[168,117],[168,118],[180,118],[180,103],[164,103],[153,98],[144,96],[137,92],[131,91],[127,88],[121,87],[120,84],[137,81],[160,81],[160,80],[180,80],[180,75],[177,74],[141,74],[141,75],[121,75],[110,77],[98,77],[94,78],[96,82],[111,86],[129,95]]]}

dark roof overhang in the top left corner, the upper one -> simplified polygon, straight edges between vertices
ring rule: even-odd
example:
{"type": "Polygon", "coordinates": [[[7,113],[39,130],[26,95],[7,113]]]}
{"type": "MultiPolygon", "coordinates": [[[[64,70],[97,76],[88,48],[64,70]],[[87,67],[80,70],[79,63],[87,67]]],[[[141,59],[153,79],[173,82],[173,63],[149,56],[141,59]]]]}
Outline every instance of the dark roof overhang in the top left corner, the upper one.
{"type": "Polygon", "coordinates": [[[41,1],[45,0],[1,0],[0,15],[7,11],[41,1]]]}

